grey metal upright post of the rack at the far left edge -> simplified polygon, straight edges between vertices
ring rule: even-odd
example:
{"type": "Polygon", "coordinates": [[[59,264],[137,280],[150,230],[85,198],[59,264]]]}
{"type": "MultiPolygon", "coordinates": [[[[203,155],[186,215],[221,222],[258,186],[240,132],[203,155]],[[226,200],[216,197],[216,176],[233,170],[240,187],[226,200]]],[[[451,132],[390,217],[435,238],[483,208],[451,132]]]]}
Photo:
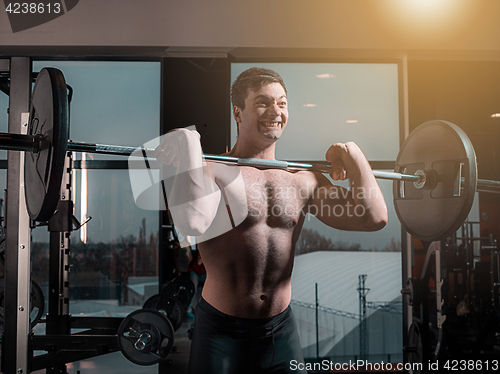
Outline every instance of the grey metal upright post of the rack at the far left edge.
{"type": "MultiPolygon", "coordinates": [[[[31,60],[10,60],[9,132],[26,133],[31,92],[31,60]]],[[[7,168],[4,373],[28,373],[30,333],[31,231],[24,197],[24,152],[9,151],[7,168]],[[9,344],[5,344],[8,341],[9,344]]]]}

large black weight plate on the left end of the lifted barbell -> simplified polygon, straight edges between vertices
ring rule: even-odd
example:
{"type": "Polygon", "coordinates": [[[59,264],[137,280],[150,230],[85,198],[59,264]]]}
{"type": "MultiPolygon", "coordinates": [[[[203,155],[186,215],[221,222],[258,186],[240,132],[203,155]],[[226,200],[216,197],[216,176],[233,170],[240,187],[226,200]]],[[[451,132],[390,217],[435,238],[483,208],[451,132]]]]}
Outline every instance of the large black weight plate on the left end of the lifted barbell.
{"type": "Polygon", "coordinates": [[[68,94],[60,70],[38,73],[30,107],[28,134],[43,136],[37,153],[26,152],[26,205],[34,221],[48,221],[57,208],[68,146],[68,94]]]}

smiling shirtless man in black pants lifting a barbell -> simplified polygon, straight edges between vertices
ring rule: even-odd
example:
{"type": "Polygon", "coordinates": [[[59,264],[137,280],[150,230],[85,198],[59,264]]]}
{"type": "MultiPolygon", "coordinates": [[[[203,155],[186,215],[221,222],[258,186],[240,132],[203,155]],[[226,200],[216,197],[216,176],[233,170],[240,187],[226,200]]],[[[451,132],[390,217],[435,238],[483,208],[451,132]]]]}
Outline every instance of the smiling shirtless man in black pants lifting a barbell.
{"type": "MultiPolygon", "coordinates": [[[[227,155],[274,160],[288,121],[281,77],[249,69],[234,82],[231,98],[238,139],[227,155]]],[[[168,198],[169,206],[181,207],[173,208],[176,225],[179,221],[187,234],[203,238],[226,211],[228,194],[233,197],[229,211],[244,212],[241,219],[231,217],[239,223],[233,229],[199,243],[207,279],[195,316],[189,372],[300,372],[290,365],[303,362],[290,309],[295,243],[306,213],[341,230],[385,226],[387,207],[366,158],[354,143],[334,144],[326,152],[331,177],[348,177],[350,193],[321,173],[249,166],[227,167],[237,168],[239,176],[224,193],[228,174],[203,162],[198,133],[176,130],[166,138],[157,148],[158,160],[175,165],[179,173],[187,171],[173,181],[168,198]],[[235,210],[234,204],[244,209],[235,210]]]]}

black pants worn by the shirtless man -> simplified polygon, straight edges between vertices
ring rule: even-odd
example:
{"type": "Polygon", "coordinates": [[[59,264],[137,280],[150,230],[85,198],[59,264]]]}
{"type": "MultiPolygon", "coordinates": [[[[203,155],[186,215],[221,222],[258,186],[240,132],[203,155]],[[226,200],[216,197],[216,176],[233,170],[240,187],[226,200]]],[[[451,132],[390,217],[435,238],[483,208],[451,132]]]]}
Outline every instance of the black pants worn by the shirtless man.
{"type": "Polygon", "coordinates": [[[307,373],[291,370],[303,362],[290,306],[271,318],[248,319],[224,314],[203,298],[199,301],[190,374],[307,373]]]}

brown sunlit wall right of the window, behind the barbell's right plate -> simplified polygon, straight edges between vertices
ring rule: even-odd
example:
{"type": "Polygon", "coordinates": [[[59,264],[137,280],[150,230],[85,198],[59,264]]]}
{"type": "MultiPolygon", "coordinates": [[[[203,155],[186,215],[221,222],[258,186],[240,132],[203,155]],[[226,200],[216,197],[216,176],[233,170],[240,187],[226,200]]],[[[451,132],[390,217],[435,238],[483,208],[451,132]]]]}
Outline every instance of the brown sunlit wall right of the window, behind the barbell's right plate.
{"type": "MultiPolygon", "coordinates": [[[[476,151],[479,178],[500,180],[500,62],[409,61],[410,131],[442,119],[461,127],[476,151]]],[[[500,237],[500,194],[480,194],[482,236],[500,237]]]]}

